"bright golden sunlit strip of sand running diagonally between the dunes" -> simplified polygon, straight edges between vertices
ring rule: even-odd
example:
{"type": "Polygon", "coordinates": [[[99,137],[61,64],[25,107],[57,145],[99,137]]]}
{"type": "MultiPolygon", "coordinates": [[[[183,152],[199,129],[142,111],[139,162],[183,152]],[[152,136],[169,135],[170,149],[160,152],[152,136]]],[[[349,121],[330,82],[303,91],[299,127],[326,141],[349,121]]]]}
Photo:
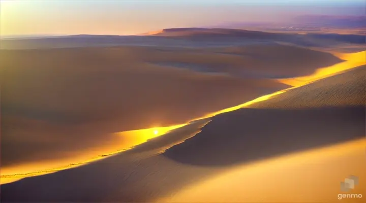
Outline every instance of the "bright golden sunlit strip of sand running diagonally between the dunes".
{"type": "MultiPolygon", "coordinates": [[[[305,84],[308,84],[310,82],[329,77],[338,73],[342,73],[343,71],[346,71],[348,69],[352,69],[353,67],[366,64],[366,51],[358,52],[358,53],[352,53],[352,54],[334,54],[341,59],[345,60],[344,62],[329,66],[329,67],[323,67],[321,69],[318,69],[314,74],[310,76],[304,76],[304,77],[298,77],[298,78],[290,78],[290,79],[281,79],[279,80],[282,83],[288,84],[293,86],[292,88],[296,88],[305,84]]],[[[291,88],[289,88],[291,89],[291,88]]],[[[195,118],[194,120],[199,120],[203,118],[210,118],[212,116],[234,111],[243,107],[250,106],[251,104],[257,103],[259,101],[267,100],[272,96],[281,94],[286,92],[286,90],[281,90],[272,94],[264,95],[259,98],[256,98],[254,100],[251,100],[245,104],[237,105],[235,107],[230,107],[227,109],[223,109],[214,113],[209,113],[207,115],[202,116],[201,118],[195,118]]],[[[163,134],[167,133],[170,130],[183,127],[187,125],[189,122],[185,124],[180,125],[174,125],[174,126],[168,126],[168,127],[154,127],[154,128],[148,128],[148,129],[139,129],[139,130],[131,130],[131,131],[123,131],[123,132],[116,132],[115,134],[117,136],[120,136],[123,138],[124,146],[119,146],[116,148],[115,146],[111,149],[110,146],[105,146],[103,149],[99,150],[98,152],[101,152],[101,154],[90,154],[89,152],[84,152],[84,154],[80,155],[80,157],[72,157],[65,160],[53,160],[53,161],[42,161],[42,162],[34,162],[32,164],[22,164],[22,165],[16,165],[11,167],[2,167],[2,175],[1,175],[1,184],[13,182],[15,180],[29,177],[29,176],[38,176],[43,175],[47,173],[53,173],[59,170],[64,170],[66,168],[80,166],[82,164],[95,161],[101,158],[105,158],[109,155],[119,153],[121,151],[128,150],[132,148],[133,146],[142,144],[149,139],[153,139],[159,136],[162,136],[163,134]],[[121,149],[123,148],[123,149],[121,149]],[[99,155],[99,156],[98,156],[99,155]],[[88,158],[85,158],[88,157],[88,158]],[[94,158],[93,158],[94,157],[94,158]],[[66,164],[67,163],[67,164],[66,164]]],[[[83,152],[81,152],[83,153],[83,152]]]]}

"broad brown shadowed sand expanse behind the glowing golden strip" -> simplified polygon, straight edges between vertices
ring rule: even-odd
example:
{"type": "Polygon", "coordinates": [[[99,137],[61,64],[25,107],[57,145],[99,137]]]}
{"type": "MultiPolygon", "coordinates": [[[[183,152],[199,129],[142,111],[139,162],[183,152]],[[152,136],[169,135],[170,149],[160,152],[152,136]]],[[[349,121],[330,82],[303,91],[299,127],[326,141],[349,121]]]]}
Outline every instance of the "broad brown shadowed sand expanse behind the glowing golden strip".
{"type": "Polygon", "coordinates": [[[342,62],[329,53],[275,43],[0,52],[3,175],[121,151],[166,132],[156,135],[157,127],[187,123],[289,87],[272,79],[276,76],[308,75],[342,62]],[[195,65],[231,76],[197,73],[190,69],[195,65]],[[142,137],[126,136],[150,128],[142,137]]]}

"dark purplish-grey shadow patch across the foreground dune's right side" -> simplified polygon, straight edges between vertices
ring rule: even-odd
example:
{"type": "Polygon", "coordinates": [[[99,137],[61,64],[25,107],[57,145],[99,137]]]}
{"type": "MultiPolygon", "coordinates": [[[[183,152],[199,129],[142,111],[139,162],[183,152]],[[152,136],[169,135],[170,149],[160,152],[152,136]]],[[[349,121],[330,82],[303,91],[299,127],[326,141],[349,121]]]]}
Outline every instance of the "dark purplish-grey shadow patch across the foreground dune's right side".
{"type": "Polygon", "coordinates": [[[221,114],[164,154],[185,164],[224,166],[364,137],[364,106],[240,109],[221,114]]]}

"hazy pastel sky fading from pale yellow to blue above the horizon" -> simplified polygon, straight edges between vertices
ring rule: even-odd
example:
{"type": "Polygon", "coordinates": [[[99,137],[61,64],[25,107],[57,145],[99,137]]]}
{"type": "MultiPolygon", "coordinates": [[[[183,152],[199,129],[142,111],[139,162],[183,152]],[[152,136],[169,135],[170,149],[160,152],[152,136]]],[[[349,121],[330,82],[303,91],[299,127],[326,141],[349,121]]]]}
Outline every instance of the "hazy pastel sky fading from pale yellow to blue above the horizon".
{"type": "Polygon", "coordinates": [[[365,0],[0,0],[0,35],[133,35],[303,14],[364,13],[365,0]]]}

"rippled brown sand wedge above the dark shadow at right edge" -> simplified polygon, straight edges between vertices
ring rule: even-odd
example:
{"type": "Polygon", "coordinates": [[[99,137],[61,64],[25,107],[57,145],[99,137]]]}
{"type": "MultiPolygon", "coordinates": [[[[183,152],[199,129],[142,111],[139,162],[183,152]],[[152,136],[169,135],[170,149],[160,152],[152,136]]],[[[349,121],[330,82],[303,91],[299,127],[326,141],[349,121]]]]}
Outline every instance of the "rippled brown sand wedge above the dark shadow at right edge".
{"type": "Polygon", "coordinates": [[[365,106],[366,65],[340,75],[316,81],[310,85],[291,89],[286,94],[274,96],[255,108],[314,108],[339,106],[365,106]],[[342,93],[340,93],[342,92],[342,93]]]}

